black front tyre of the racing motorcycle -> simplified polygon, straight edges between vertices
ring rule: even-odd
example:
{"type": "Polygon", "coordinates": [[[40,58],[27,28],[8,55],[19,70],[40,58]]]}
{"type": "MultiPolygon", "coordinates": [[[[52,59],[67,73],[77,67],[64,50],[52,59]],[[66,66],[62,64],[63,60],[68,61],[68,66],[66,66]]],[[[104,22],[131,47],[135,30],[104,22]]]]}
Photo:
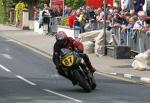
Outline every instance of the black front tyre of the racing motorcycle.
{"type": "Polygon", "coordinates": [[[76,77],[76,80],[79,82],[79,85],[86,91],[91,92],[91,87],[88,83],[88,81],[78,72],[75,71],[74,75],[76,77]]]}

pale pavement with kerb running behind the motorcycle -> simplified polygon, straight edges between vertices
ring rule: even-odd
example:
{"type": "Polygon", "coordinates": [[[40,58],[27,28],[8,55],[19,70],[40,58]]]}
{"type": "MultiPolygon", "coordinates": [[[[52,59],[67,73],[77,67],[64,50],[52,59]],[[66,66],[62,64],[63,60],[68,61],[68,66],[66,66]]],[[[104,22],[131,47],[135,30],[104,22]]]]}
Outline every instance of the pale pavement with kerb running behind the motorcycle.
{"type": "MultiPolygon", "coordinates": [[[[39,51],[51,58],[53,54],[54,36],[41,35],[33,30],[21,30],[14,26],[0,24],[0,36],[12,39],[33,50],[39,51]]],[[[150,71],[134,70],[131,66],[133,59],[115,59],[109,56],[88,54],[97,74],[131,80],[136,83],[150,84],[150,71]]]]}

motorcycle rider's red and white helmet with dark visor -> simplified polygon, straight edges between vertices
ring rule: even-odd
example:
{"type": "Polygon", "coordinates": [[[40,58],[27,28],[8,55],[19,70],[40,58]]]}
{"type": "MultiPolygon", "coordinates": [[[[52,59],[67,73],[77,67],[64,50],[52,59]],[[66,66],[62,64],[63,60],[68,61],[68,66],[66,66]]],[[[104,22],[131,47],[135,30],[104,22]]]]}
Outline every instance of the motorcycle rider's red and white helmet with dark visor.
{"type": "Polygon", "coordinates": [[[67,45],[67,34],[63,31],[57,32],[56,40],[57,40],[58,45],[66,46],[67,45]]]}

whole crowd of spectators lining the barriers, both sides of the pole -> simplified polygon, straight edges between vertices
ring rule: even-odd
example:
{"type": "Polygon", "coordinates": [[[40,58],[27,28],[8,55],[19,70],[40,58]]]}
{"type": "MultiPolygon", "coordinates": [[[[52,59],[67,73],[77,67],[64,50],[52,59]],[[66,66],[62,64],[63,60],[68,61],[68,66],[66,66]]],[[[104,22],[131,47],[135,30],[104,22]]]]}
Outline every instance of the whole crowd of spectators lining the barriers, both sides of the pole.
{"type": "MultiPolygon", "coordinates": [[[[126,33],[128,30],[135,30],[147,32],[147,35],[150,35],[150,13],[149,11],[144,11],[145,2],[143,1],[145,0],[140,0],[141,2],[138,4],[135,3],[134,8],[128,7],[127,4],[130,0],[124,1],[122,7],[112,6],[110,4],[106,5],[106,21],[109,24],[107,30],[120,28],[123,33],[126,33]]],[[[97,24],[104,21],[105,12],[104,6],[97,9],[83,6],[76,10],[71,10],[71,8],[65,6],[63,12],[60,8],[52,9],[50,6],[47,6],[47,4],[44,4],[41,15],[41,20],[48,23],[48,26],[50,22],[49,19],[46,19],[46,16],[48,16],[48,18],[49,16],[52,18],[66,16],[68,17],[68,26],[70,28],[78,27],[80,28],[80,33],[84,33],[86,31],[99,29],[97,24]]]]}

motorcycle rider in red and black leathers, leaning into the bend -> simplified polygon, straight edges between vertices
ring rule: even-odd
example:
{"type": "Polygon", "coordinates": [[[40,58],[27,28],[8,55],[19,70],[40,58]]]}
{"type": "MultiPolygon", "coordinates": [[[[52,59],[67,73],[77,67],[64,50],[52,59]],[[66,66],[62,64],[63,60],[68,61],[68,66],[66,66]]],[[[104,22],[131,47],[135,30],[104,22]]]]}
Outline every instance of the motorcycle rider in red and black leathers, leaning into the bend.
{"type": "Polygon", "coordinates": [[[56,34],[56,42],[54,44],[54,50],[53,50],[53,62],[56,65],[56,69],[58,70],[59,74],[63,75],[61,65],[60,65],[61,64],[60,63],[60,50],[62,48],[67,48],[70,50],[78,51],[80,57],[83,58],[88,69],[92,73],[96,71],[95,68],[93,68],[93,66],[91,65],[88,55],[83,53],[83,44],[80,41],[76,41],[72,37],[67,37],[65,32],[59,31],[56,34]]]}

